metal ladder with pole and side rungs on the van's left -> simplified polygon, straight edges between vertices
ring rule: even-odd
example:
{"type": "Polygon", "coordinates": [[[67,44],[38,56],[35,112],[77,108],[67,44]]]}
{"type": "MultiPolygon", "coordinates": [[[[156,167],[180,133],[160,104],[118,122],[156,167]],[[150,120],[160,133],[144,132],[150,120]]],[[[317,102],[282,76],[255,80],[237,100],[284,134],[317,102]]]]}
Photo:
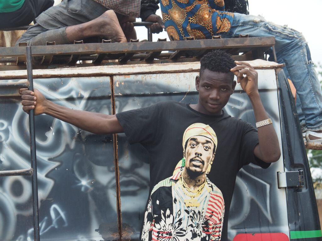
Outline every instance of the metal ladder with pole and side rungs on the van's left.
{"type": "MultiPolygon", "coordinates": [[[[31,46],[26,47],[27,82],[3,83],[1,89],[28,88],[33,91],[33,68],[31,46]]],[[[12,95],[1,95],[10,98],[12,95]]],[[[30,175],[32,177],[32,199],[33,199],[33,235],[34,240],[40,240],[39,215],[38,215],[38,185],[37,185],[37,164],[36,164],[36,141],[34,128],[34,110],[29,111],[29,132],[30,132],[30,156],[31,168],[22,170],[0,171],[0,176],[21,176],[30,175]]]]}

